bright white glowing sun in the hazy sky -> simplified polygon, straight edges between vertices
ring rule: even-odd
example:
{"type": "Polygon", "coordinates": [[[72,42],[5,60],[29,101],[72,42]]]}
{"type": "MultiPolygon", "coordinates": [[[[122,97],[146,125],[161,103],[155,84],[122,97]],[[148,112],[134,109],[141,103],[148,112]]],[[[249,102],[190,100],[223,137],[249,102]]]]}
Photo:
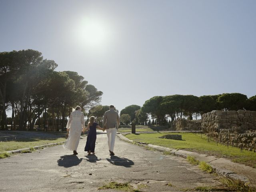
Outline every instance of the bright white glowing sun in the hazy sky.
{"type": "Polygon", "coordinates": [[[84,18],[77,28],[77,40],[89,46],[105,44],[108,37],[108,28],[103,22],[96,19],[84,18]]]}

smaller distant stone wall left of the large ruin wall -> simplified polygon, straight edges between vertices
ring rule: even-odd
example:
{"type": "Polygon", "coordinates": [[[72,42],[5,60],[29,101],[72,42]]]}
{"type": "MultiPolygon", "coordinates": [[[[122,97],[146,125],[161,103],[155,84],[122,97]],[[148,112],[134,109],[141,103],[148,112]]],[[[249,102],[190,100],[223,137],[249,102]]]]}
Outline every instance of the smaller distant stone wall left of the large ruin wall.
{"type": "Polygon", "coordinates": [[[177,131],[200,131],[201,130],[201,120],[186,120],[182,118],[177,118],[173,122],[173,129],[177,131]]]}

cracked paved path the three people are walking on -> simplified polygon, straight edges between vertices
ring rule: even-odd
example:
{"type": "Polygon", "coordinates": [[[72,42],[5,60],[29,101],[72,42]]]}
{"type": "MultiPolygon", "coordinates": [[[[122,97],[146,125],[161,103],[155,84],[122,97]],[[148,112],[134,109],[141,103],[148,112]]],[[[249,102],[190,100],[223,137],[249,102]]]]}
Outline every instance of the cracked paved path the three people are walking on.
{"type": "Polygon", "coordinates": [[[144,192],[180,192],[219,184],[183,158],[146,150],[118,137],[115,156],[109,156],[106,134],[97,135],[96,155],[85,154],[85,142],[86,138],[80,140],[77,156],[54,146],[0,159],[0,192],[114,192],[98,190],[111,181],[130,182],[135,188],[146,184],[140,189],[144,192]]]}

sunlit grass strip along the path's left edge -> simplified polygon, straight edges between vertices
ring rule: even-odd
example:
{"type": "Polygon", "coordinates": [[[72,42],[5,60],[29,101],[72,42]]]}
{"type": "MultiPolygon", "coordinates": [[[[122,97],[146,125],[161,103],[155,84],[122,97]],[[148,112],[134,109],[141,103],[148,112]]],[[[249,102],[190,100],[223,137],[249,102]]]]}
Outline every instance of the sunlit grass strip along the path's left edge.
{"type": "Polygon", "coordinates": [[[45,145],[50,143],[57,143],[65,141],[65,138],[52,138],[52,139],[42,139],[42,138],[32,138],[23,139],[18,141],[0,141],[0,154],[10,150],[22,149],[27,147],[34,147],[39,145],[45,145]]]}

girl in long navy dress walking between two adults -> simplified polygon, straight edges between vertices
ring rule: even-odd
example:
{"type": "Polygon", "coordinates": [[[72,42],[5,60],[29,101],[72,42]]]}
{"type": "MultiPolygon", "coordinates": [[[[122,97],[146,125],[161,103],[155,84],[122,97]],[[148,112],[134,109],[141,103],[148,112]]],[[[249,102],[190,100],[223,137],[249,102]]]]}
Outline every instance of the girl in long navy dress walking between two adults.
{"type": "Polygon", "coordinates": [[[89,133],[86,140],[86,145],[84,148],[84,151],[88,152],[88,155],[95,154],[95,142],[96,142],[96,128],[104,131],[100,126],[98,126],[98,123],[95,122],[95,117],[90,117],[90,122],[88,123],[88,126],[85,130],[89,129],[89,133]]]}

